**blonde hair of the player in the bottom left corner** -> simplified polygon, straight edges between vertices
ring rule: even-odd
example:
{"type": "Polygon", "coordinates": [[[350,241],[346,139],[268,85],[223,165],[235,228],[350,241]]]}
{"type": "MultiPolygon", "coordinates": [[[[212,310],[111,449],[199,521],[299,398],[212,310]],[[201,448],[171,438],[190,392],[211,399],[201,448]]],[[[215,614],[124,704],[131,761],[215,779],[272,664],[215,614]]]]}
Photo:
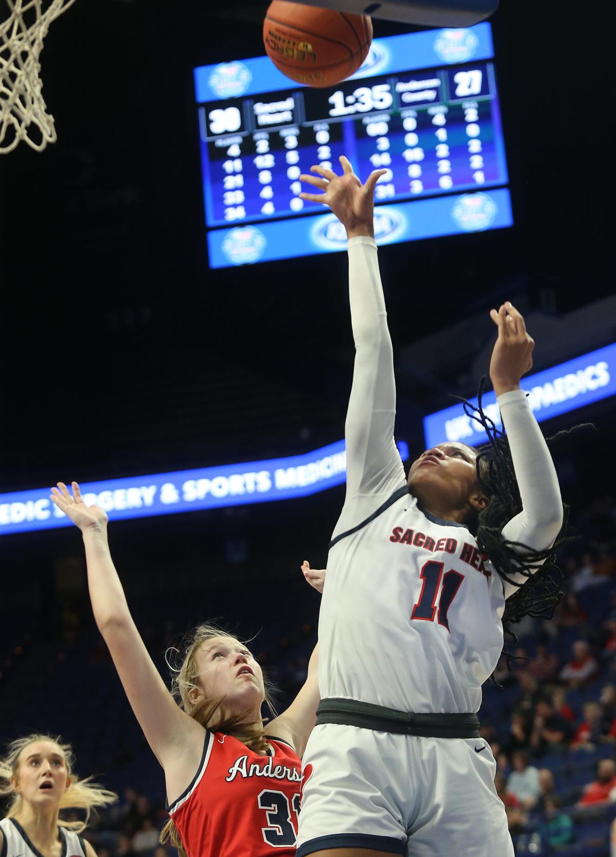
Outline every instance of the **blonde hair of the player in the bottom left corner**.
{"type": "Polygon", "coordinates": [[[14,783],[19,778],[19,763],[21,753],[35,741],[51,741],[57,744],[63,752],[64,761],[66,764],[67,775],[70,778],[69,788],[66,789],[60,799],[59,810],[63,809],[85,809],[85,821],[66,821],[63,818],[57,819],[57,824],[60,827],[65,827],[67,830],[74,830],[75,833],[82,833],[88,826],[90,818],[90,810],[96,806],[107,806],[118,800],[118,795],[114,792],[107,791],[96,782],[91,782],[91,777],[86,777],[85,780],[80,780],[73,772],[75,764],[75,754],[69,744],[63,744],[59,735],[53,738],[51,735],[45,734],[30,734],[25,738],[17,738],[11,741],[7,747],[7,752],[4,758],[0,759],[0,799],[12,795],[13,800],[9,803],[9,810],[6,813],[6,818],[15,817],[21,811],[23,798],[21,794],[15,792],[14,783]],[[11,782],[11,779],[13,782],[11,782]]]}

